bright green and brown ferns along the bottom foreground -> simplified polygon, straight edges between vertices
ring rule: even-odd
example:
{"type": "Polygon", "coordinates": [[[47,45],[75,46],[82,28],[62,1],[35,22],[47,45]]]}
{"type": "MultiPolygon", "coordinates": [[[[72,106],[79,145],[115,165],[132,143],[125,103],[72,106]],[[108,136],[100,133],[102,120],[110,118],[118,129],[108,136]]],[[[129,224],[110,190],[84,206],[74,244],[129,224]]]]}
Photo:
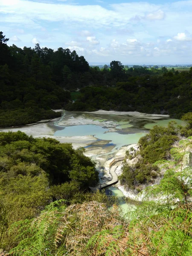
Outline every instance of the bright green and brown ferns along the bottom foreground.
{"type": "Polygon", "coordinates": [[[144,204],[134,220],[127,221],[118,208],[109,211],[96,201],[71,207],[57,201],[38,218],[12,227],[21,240],[10,255],[190,256],[191,210],[191,204],[173,210],[144,204]]]}

